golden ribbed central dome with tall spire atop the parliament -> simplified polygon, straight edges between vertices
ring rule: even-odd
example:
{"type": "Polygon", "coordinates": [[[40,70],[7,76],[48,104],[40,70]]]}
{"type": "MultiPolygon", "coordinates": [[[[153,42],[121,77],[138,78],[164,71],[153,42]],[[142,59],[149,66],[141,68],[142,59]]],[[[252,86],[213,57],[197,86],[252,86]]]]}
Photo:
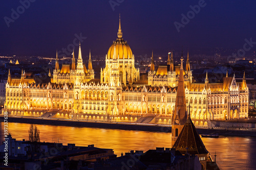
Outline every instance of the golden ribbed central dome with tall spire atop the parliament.
{"type": "Polygon", "coordinates": [[[130,48],[130,46],[127,44],[127,41],[124,41],[122,39],[123,33],[121,30],[121,19],[119,16],[119,29],[117,32],[117,40],[113,42],[113,44],[110,46],[108,51],[108,59],[113,59],[114,55],[114,48],[116,46],[116,58],[118,59],[132,59],[133,52],[130,48]]]}

